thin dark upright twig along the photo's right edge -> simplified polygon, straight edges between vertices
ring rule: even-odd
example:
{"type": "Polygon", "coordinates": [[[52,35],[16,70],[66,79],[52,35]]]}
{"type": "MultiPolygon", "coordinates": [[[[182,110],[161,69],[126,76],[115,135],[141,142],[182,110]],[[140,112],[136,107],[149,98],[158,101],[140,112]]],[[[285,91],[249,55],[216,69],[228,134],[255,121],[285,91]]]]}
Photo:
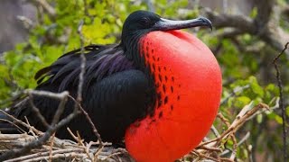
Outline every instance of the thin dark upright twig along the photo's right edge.
{"type": "Polygon", "coordinates": [[[282,80],[281,80],[281,74],[279,67],[277,65],[277,60],[283,55],[284,51],[288,49],[289,42],[287,42],[284,45],[284,49],[279,53],[278,56],[276,56],[273,60],[274,67],[276,70],[276,78],[278,82],[278,87],[279,87],[279,95],[280,95],[280,101],[279,101],[279,106],[282,110],[282,127],[283,127],[283,154],[284,154],[284,162],[287,161],[287,130],[286,130],[286,114],[285,114],[285,107],[284,107],[284,98],[283,98],[283,85],[282,85],[282,80]]]}

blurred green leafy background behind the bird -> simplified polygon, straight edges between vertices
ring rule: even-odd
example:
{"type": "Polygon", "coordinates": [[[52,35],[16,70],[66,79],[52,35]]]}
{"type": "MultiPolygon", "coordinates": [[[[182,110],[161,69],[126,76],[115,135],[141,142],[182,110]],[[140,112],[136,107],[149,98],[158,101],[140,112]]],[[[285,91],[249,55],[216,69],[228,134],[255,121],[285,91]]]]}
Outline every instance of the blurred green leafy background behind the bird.
{"type": "MultiPolygon", "coordinates": [[[[201,15],[211,20],[213,31],[190,32],[219,60],[223,74],[219,112],[233,121],[248,103],[271,107],[236,133],[238,141],[247,137],[238,146],[237,160],[281,161],[284,121],[273,59],[289,41],[288,0],[1,0],[0,108],[21,98],[24,89],[35,87],[37,70],[79,48],[80,20],[84,20],[86,44],[117,43],[126,16],[139,9],[170,19],[201,15]]],[[[289,49],[278,62],[287,119],[288,58],[289,49]]],[[[288,120],[286,124],[288,130],[288,120]]],[[[215,126],[218,130],[226,127],[218,121],[215,126]]],[[[232,142],[224,147],[230,150],[232,142]]]]}

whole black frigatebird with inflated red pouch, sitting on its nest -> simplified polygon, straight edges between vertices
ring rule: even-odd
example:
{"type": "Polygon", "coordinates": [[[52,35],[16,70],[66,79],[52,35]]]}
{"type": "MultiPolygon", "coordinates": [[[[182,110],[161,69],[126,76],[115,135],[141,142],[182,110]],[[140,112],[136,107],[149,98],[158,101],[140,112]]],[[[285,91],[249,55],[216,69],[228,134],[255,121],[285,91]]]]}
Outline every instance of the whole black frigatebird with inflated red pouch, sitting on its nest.
{"type": "MultiPolygon", "coordinates": [[[[125,139],[137,161],[172,161],[200,143],[219,108],[221,73],[206,45],[188,32],[176,31],[197,26],[211,28],[211,23],[203,17],[171,21],[136,11],[127,17],[119,44],[85,47],[81,104],[103,140],[125,139]]],[[[79,55],[80,49],[70,51],[38,71],[36,89],[67,90],[76,97],[79,55]]],[[[33,103],[51,122],[60,102],[35,95],[33,103]]],[[[66,103],[62,118],[72,112],[73,105],[71,100],[66,103]]],[[[26,117],[31,125],[45,130],[29,102],[8,113],[23,121],[26,117]]],[[[8,126],[0,124],[0,130],[14,130],[8,126]]],[[[84,115],[67,127],[88,141],[97,140],[84,115]]],[[[57,137],[70,139],[70,134],[62,128],[57,137]]]]}

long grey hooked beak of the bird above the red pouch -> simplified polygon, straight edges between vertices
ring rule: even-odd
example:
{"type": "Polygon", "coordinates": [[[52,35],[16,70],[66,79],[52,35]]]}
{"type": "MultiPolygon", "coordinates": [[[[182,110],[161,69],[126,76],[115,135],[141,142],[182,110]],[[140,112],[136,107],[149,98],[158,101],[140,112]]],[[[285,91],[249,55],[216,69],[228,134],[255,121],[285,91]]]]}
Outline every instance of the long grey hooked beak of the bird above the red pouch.
{"type": "Polygon", "coordinates": [[[156,31],[171,31],[180,30],[186,28],[192,28],[197,26],[207,26],[212,30],[212,24],[210,20],[205,17],[199,17],[196,19],[185,20],[185,21],[172,21],[168,19],[163,19],[154,24],[153,28],[156,31]]]}

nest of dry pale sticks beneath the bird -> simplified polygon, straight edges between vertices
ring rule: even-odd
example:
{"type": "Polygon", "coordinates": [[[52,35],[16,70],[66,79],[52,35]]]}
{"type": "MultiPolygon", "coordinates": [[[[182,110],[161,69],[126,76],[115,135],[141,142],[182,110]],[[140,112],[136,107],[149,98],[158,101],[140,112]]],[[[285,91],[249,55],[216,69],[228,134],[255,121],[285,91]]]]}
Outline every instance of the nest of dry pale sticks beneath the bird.
{"type": "MultiPolygon", "coordinates": [[[[209,139],[207,137],[203,139],[197,148],[177,161],[234,161],[238,146],[249,137],[248,132],[243,139],[237,142],[238,139],[235,137],[236,131],[257,113],[266,111],[264,108],[266,108],[266,110],[268,109],[265,103],[259,103],[256,106],[250,103],[238,113],[235,121],[232,123],[229,123],[219,112],[216,120],[223,122],[227,126],[227,130],[222,130],[222,133],[219,133],[219,130],[212,126],[208,137],[213,134],[215,138],[209,139]],[[224,147],[229,139],[233,141],[233,148],[231,150],[224,147]]],[[[27,124],[17,119],[14,119],[14,121],[20,122],[28,127],[29,131],[22,134],[0,133],[1,156],[6,152],[17,152],[17,149],[25,148],[30,143],[40,140],[42,136],[45,135],[45,132],[36,130],[33,126],[30,126],[29,123],[27,124]]],[[[113,148],[110,143],[102,143],[99,145],[99,141],[86,143],[83,142],[79,134],[72,134],[71,131],[70,134],[75,141],[58,139],[54,137],[53,133],[41,146],[32,148],[29,152],[19,156],[15,155],[6,161],[134,161],[125,148],[113,148]]]]}

